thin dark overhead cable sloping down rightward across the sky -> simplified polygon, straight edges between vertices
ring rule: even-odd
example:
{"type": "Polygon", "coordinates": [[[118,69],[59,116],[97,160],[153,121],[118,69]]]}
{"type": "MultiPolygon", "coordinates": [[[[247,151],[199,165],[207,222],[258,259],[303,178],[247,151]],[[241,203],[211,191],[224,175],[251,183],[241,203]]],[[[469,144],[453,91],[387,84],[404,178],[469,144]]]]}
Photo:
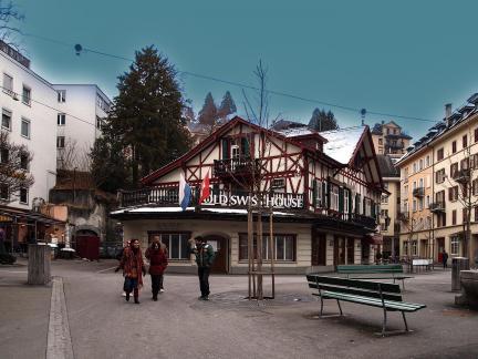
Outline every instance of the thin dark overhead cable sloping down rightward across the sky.
{"type": "MultiPolygon", "coordinates": [[[[37,38],[43,41],[49,41],[52,43],[56,43],[56,44],[61,44],[64,47],[74,47],[72,43],[66,43],[63,41],[59,41],[59,40],[54,40],[54,39],[50,39],[50,38],[45,38],[45,37],[41,37],[41,35],[35,35],[32,33],[24,33],[24,35],[30,37],[30,38],[37,38]]],[[[84,52],[91,52],[91,53],[95,53],[98,55],[103,55],[103,57],[107,57],[107,58],[112,58],[112,59],[116,59],[116,60],[124,60],[124,61],[128,61],[128,62],[134,62],[135,60],[133,59],[128,59],[125,57],[121,57],[121,55],[116,55],[116,54],[112,54],[112,53],[107,53],[107,52],[103,52],[103,51],[98,51],[98,50],[94,50],[94,49],[89,49],[89,48],[81,48],[81,51],[84,52]]],[[[240,83],[240,82],[236,82],[236,81],[230,81],[230,80],[225,80],[225,79],[220,79],[220,78],[216,78],[216,76],[210,76],[210,75],[205,75],[205,74],[200,74],[200,73],[195,73],[195,72],[190,72],[190,71],[181,71],[178,70],[178,73],[183,73],[185,75],[189,75],[189,76],[194,76],[194,78],[198,78],[198,79],[202,79],[202,80],[209,80],[209,81],[215,81],[215,82],[219,82],[219,83],[225,83],[225,84],[229,84],[232,86],[238,86],[241,89],[249,89],[249,90],[253,90],[253,91],[260,91],[260,89],[249,85],[249,84],[245,84],[245,83],[240,83]]],[[[299,101],[304,101],[304,102],[309,102],[309,103],[314,103],[314,104],[320,104],[323,106],[329,106],[329,107],[335,107],[335,109],[341,109],[344,111],[351,111],[351,112],[355,112],[355,113],[360,113],[362,109],[356,109],[356,107],[352,107],[352,106],[346,106],[346,105],[341,105],[337,103],[331,103],[331,102],[326,102],[326,101],[322,101],[322,100],[316,100],[316,99],[308,99],[304,96],[299,96],[292,93],[287,93],[287,92],[282,92],[282,91],[276,91],[276,90],[266,90],[267,93],[277,95],[277,96],[282,96],[282,98],[289,98],[289,99],[294,99],[294,100],[299,100],[299,101]]],[[[423,119],[423,117],[416,117],[416,116],[407,116],[407,115],[399,115],[399,114],[393,114],[393,113],[383,113],[383,112],[376,112],[376,111],[368,111],[366,112],[367,114],[373,114],[373,115],[378,115],[378,116],[387,116],[387,117],[396,117],[396,119],[403,119],[403,120],[412,120],[412,121],[420,121],[420,122],[433,122],[436,123],[438,121],[435,120],[429,120],[429,119],[423,119]]]]}

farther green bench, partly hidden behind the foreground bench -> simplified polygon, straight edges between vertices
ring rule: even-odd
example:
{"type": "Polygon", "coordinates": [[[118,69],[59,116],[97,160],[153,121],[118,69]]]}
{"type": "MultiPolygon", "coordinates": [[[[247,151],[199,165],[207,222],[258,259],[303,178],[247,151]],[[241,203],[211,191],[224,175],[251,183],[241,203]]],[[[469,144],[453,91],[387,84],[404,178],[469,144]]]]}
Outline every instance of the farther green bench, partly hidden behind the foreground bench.
{"type": "Polygon", "coordinates": [[[345,274],[349,279],[393,279],[402,280],[402,286],[405,289],[405,279],[413,278],[405,276],[401,264],[392,265],[347,265],[336,266],[339,274],[345,274]],[[376,274],[376,276],[363,276],[376,274]]]}

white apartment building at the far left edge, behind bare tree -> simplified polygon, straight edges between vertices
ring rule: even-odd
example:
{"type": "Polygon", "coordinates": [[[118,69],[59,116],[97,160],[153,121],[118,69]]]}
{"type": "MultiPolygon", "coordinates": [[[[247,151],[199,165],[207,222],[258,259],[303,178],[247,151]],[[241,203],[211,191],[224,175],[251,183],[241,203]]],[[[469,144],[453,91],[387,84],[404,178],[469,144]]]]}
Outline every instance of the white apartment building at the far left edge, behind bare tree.
{"type": "Polygon", "coordinates": [[[31,209],[34,198],[48,201],[56,175],[56,113],[51,109],[56,92],[29,66],[28,59],[0,43],[1,131],[8,131],[10,142],[24,144],[33,154],[27,171],[34,176],[34,184],[21,194],[0,192],[3,205],[23,209],[31,209]]]}

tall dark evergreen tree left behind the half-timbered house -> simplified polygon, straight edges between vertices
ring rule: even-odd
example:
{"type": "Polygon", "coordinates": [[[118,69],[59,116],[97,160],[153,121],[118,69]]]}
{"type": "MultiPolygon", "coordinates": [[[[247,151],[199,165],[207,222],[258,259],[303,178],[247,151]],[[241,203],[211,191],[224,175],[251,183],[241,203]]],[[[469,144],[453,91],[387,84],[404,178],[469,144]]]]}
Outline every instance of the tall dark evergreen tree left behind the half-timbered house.
{"type": "MultiPolygon", "coordinates": [[[[98,141],[93,148],[93,167],[100,171],[102,162],[108,164],[108,161],[116,161],[119,167],[127,167],[131,185],[136,186],[141,177],[189,148],[190,139],[184,126],[183,96],[176,70],[154,47],[136,52],[128,72],[118,76],[117,89],[119,94],[114,99],[103,131],[105,140],[98,141]],[[104,143],[107,141],[112,143],[104,143]],[[98,158],[102,155],[105,157],[98,158]]],[[[115,162],[110,165],[116,168],[118,178],[124,176],[115,162]]],[[[116,186],[123,185],[107,187],[116,186]]]]}

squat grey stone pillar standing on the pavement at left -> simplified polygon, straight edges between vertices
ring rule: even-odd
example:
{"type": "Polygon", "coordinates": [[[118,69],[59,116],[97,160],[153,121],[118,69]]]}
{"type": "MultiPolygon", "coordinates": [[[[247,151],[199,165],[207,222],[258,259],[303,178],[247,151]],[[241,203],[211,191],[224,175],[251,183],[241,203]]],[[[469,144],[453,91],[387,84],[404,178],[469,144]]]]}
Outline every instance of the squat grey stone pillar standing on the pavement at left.
{"type": "Polygon", "coordinates": [[[50,283],[50,246],[29,245],[28,284],[45,285],[50,283]]]}

